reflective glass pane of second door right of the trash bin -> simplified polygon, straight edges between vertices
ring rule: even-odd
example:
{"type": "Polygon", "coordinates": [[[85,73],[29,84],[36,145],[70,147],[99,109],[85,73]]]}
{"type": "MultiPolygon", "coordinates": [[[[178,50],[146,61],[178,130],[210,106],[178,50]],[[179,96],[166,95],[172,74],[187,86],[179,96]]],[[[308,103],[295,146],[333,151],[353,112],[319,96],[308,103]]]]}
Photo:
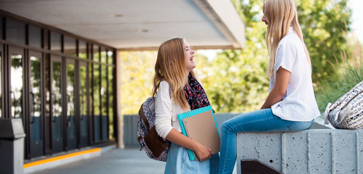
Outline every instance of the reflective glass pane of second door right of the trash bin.
{"type": "Polygon", "coordinates": [[[62,88],[61,88],[61,62],[53,62],[52,79],[52,111],[53,111],[53,139],[61,138],[62,126],[62,88]]]}

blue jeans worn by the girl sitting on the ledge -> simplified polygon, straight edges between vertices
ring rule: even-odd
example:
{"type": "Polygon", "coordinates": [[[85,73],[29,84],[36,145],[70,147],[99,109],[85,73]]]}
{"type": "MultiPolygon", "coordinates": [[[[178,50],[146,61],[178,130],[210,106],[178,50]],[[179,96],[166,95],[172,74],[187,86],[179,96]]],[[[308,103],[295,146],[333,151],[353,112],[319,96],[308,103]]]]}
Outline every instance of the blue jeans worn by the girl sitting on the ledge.
{"type": "Polygon", "coordinates": [[[266,131],[296,131],[309,129],[311,121],[282,120],[272,113],[272,109],[260,109],[248,112],[222,124],[221,152],[219,160],[219,174],[231,174],[236,162],[236,133],[238,132],[266,132],[266,131]]]}

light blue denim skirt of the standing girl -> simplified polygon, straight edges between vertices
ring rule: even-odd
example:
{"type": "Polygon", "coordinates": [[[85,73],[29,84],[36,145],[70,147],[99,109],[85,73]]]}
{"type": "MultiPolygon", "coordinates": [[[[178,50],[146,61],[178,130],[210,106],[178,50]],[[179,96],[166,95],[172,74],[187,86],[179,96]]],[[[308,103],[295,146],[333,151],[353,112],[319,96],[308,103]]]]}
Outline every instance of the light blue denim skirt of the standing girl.
{"type": "Polygon", "coordinates": [[[218,169],[219,153],[202,162],[190,161],[187,148],[171,143],[164,174],[217,174],[218,169]]]}

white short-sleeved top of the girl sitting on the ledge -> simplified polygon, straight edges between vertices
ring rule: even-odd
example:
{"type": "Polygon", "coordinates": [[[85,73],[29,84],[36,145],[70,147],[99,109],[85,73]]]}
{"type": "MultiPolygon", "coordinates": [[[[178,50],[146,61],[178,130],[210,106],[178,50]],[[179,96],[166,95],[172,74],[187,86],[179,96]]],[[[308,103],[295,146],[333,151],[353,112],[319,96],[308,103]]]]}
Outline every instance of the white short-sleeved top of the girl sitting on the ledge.
{"type": "Polygon", "coordinates": [[[271,107],[273,114],[290,121],[311,121],[320,116],[304,47],[292,27],[278,43],[269,92],[275,86],[280,66],[291,74],[284,98],[271,107]]]}

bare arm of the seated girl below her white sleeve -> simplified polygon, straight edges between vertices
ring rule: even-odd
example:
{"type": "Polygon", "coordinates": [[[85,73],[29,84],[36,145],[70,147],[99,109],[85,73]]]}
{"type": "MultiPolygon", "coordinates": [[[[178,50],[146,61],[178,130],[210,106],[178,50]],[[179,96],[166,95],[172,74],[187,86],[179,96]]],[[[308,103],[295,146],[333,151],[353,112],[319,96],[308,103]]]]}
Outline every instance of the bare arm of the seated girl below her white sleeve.
{"type": "Polygon", "coordinates": [[[278,68],[276,72],[276,83],[272,88],[270,94],[267,96],[265,103],[262,105],[261,109],[271,108],[272,105],[281,101],[286,94],[287,84],[289,83],[290,71],[282,68],[278,68]]]}

